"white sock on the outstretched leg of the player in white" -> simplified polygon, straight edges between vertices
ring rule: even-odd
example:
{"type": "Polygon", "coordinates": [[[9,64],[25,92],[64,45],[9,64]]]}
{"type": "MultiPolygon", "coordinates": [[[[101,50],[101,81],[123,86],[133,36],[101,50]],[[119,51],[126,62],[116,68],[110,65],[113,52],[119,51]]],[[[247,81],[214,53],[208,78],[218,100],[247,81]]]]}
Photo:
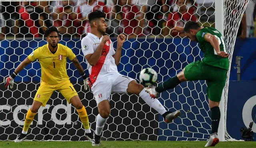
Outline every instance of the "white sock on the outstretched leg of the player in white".
{"type": "Polygon", "coordinates": [[[145,91],[145,88],[142,89],[140,92],[140,97],[153,109],[155,109],[159,114],[164,114],[166,112],[166,109],[164,106],[159,102],[158,99],[153,99],[150,97],[149,93],[145,91]]]}

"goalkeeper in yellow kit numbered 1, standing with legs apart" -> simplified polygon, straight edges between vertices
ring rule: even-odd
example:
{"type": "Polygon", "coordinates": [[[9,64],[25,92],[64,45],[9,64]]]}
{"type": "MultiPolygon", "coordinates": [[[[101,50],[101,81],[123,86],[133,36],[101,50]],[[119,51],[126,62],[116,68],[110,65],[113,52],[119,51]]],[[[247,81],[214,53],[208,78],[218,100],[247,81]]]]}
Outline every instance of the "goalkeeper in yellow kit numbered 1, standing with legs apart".
{"type": "Polygon", "coordinates": [[[54,91],[59,91],[66,98],[68,103],[72,103],[74,107],[76,107],[76,111],[78,112],[80,120],[82,121],[86,131],[85,136],[92,141],[93,135],[90,130],[86,109],[82,105],[82,102],[80,101],[80,98],[78,97],[72,83],[70,83],[67,75],[67,58],[74,63],[80,72],[80,75],[84,79],[84,88],[87,90],[88,81],[87,76],[84,73],[84,69],[80,65],[72,50],[67,46],[58,43],[59,32],[57,28],[54,26],[48,28],[45,31],[44,36],[46,37],[46,41],[48,43],[42,47],[38,47],[30,55],[28,55],[28,57],[24,59],[24,61],[22,61],[14,70],[14,73],[12,73],[12,75],[7,77],[4,81],[5,87],[9,86],[9,88],[12,89],[14,78],[18,75],[18,73],[24,69],[26,65],[38,59],[42,71],[40,87],[36,92],[32,107],[26,114],[22,133],[18,136],[15,142],[22,142],[22,140],[26,139],[28,128],[31,122],[34,120],[34,116],[38,112],[38,109],[41,106],[44,107],[46,105],[54,91]]]}

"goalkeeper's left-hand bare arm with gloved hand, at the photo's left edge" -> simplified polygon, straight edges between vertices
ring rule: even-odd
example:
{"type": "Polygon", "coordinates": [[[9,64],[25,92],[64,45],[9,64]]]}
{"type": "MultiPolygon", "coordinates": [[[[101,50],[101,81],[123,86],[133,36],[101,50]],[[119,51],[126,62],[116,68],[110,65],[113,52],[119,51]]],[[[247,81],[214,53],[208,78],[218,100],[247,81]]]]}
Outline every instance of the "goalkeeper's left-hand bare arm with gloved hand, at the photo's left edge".
{"type": "Polygon", "coordinates": [[[18,65],[18,67],[14,70],[14,72],[12,73],[12,75],[10,75],[9,77],[7,77],[4,80],[4,87],[10,87],[10,89],[12,89],[13,87],[13,80],[14,78],[18,75],[18,73],[20,71],[22,71],[22,69],[24,69],[24,67],[26,67],[26,65],[28,65],[29,63],[31,63],[31,61],[28,59],[28,57],[26,59],[24,59],[20,65],[18,65]]]}

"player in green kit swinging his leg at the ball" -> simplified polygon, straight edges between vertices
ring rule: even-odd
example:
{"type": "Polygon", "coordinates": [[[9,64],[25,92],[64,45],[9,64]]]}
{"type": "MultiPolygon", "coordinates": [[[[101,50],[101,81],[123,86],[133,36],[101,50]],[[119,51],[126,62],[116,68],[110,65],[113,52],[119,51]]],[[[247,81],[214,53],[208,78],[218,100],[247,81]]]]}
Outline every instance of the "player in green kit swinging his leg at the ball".
{"type": "Polygon", "coordinates": [[[218,126],[220,122],[219,103],[226,83],[229,68],[228,53],[224,39],[218,30],[211,27],[200,27],[196,22],[187,22],[185,27],[174,27],[172,32],[184,32],[191,41],[200,43],[204,52],[202,61],[188,64],[178,75],[158,85],[148,87],[146,91],[156,98],[158,93],[173,89],[183,81],[206,80],[209,106],[212,112],[212,134],[205,147],[215,146],[218,142],[218,126]]]}

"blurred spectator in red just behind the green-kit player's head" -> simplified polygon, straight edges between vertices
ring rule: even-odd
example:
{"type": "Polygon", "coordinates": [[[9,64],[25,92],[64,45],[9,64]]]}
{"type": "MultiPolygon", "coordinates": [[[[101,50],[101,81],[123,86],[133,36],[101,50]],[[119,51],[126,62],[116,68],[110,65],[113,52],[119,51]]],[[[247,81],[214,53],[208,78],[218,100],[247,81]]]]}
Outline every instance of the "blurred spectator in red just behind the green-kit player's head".
{"type": "MultiPolygon", "coordinates": [[[[196,18],[195,15],[191,15],[190,13],[188,13],[187,7],[185,5],[185,0],[178,0],[177,3],[179,9],[177,12],[172,12],[169,14],[168,16],[168,22],[165,28],[163,28],[162,30],[162,35],[163,36],[168,36],[170,34],[170,29],[175,27],[175,26],[180,26],[180,27],[184,27],[185,23],[188,21],[195,21],[197,22],[198,19],[196,18]]],[[[184,33],[172,33],[171,36],[172,37],[178,37],[178,35],[180,37],[184,37],[184,33]]]]}

